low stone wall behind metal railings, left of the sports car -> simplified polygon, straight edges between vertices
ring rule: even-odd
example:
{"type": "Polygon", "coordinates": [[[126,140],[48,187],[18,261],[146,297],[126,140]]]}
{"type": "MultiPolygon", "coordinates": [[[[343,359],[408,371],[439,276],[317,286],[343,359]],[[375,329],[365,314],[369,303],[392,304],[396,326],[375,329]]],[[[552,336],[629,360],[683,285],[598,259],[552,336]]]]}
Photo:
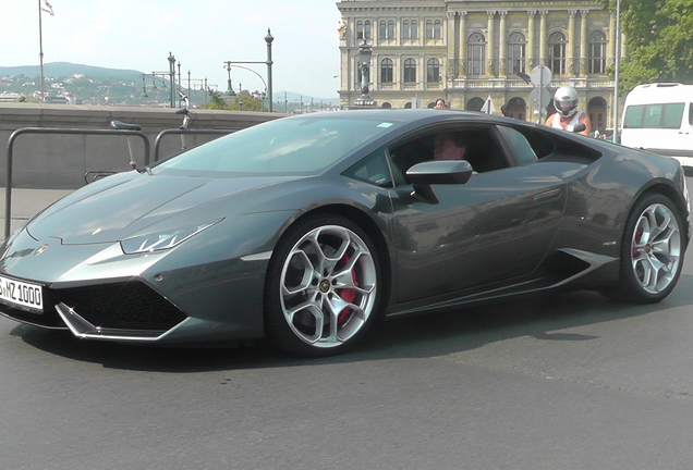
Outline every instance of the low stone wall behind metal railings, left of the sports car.
{"type": "MultiPolygon", "coordinates": [[[[190,129],[240,131],[285,114],[242,111],[192,110],[190,129]]],[[[108,129],[113,120],[138,124],[150,143],[163,129],[178,129],[183,116],[170,108],[78,107],[63,104],[0,103],[0,186],[5,186],[8,143],[13,132],[24,127],[108,129]]],[[[186,135],[187,148],[217,138],[217,135],[186,135]]],[[[130,137],[137,165],[145,162],[145,146],[130,137]]],[[[181,150],[180,135],[160,139],[159,158],[181,150]]],[[[129,170],[127,139],[122,135],[21,134],[13,144],[12,185],[24,188],[74,189],[83,186],[84,173],[98,170],[129,170]]]]}

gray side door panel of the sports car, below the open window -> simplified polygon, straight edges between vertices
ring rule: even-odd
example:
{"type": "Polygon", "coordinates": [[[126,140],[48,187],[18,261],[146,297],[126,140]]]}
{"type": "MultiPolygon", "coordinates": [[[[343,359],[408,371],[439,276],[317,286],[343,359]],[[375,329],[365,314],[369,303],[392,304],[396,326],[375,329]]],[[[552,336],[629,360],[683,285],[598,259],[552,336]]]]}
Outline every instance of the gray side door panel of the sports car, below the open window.
{"type": "MultiPolygon", "coordinates": [[[[484,132],[502,139],[493,126],[479,139],[484,132]]],[[[558,231],[566,185],[504,158],[506,168],[464,184],[431,185],[437,201],[411,185],[393,189],[400,301],[503,282],[537,267],[558,231]]]]}

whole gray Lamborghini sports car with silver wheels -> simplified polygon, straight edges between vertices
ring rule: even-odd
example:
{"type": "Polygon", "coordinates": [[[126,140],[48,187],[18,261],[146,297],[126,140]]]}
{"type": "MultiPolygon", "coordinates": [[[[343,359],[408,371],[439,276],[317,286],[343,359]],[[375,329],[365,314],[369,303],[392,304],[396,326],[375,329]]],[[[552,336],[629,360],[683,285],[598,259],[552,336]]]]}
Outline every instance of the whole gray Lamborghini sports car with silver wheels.
{"type": "Polygon", "coordinates": [[[676,160],[522,121],[287,118],[44,210],[0,249],[0,310],[89,339],[327,356],[382,317],[527,293],[659,301],[688,199],[676,160]]]}

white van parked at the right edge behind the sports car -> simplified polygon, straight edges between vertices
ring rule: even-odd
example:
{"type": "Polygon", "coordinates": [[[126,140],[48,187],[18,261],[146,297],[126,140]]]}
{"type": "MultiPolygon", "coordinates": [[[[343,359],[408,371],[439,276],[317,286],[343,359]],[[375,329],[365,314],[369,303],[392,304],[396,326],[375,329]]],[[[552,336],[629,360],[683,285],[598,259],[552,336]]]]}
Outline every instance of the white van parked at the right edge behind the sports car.
{"type": "Polygon", "coordinates": [[[639,85],[625,97],[621,144],[672,157],[693,170],[693,85],[639,85]]]}

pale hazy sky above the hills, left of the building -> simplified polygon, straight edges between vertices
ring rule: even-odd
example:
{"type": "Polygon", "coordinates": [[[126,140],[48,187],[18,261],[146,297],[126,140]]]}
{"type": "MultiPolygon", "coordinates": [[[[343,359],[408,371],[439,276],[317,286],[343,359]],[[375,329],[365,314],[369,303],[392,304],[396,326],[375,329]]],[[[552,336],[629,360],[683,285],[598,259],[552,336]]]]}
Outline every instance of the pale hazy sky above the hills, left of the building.
{"type": "MultiPolygon", "coordinates": [[[[46,0],[2,0],[0,66],[38,65],[39,13],[46,0]]],[[[226,61],[265,62],[272,42],[272,89],[336,98],[340,13],[335,0],[47,0],[41,13],[44,63],[72,62],[144,73],[181,63],[183,83],[207,78],[227,89],[226,61]]],[[[251,67],[267,79],[267,66],[251,67]]],[[[264,90],[253,72],[234,67],[233,87],[264,90]]],[[[199,82],[198,82],[199,83],[199,82]]]]}

